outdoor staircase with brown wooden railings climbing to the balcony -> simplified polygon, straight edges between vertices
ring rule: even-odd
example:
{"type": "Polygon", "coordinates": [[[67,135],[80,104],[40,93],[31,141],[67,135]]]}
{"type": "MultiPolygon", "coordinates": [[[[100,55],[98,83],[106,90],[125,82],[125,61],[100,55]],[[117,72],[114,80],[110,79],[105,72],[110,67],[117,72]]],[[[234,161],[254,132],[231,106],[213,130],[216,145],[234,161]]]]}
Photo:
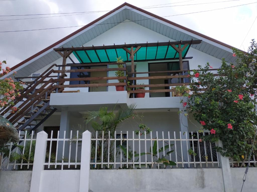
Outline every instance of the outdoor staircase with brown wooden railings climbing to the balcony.
{"type": "MultiPolygon", "coordinates": [[[[12,106],[8,106],[0,111],[1,115],[5,115],[17,129],[17,131],[32,131],[37,129],[47,120],[57,109],[50,106],[50,94],[56,91],[53,79],[44,81],[52,73],[54,66],[52,65],[31,84],[21,91],[21,96],[14,101],[19,108],[15,113],[10,113],[12,106]],[[42,83],[44,82],[44,83],[42,83]],[[39,89],[36,89],[42,83],[39,89]]],[[[64,75],[65,76],[65,75],[64,75]]],[[[58,92],[61,92],[59,89],[58,92]]]]}

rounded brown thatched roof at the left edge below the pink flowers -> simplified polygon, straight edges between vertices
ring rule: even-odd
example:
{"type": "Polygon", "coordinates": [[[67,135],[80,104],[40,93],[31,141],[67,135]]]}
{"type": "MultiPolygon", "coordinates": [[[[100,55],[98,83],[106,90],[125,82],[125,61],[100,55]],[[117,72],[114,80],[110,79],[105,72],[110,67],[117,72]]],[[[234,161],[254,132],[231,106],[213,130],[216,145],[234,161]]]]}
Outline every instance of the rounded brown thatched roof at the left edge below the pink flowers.
{"type": "Polygon", "coordinates": [[[0,115],[0,145],[6,142],[18,142],[19,135],[16,128],[0,115]]]}

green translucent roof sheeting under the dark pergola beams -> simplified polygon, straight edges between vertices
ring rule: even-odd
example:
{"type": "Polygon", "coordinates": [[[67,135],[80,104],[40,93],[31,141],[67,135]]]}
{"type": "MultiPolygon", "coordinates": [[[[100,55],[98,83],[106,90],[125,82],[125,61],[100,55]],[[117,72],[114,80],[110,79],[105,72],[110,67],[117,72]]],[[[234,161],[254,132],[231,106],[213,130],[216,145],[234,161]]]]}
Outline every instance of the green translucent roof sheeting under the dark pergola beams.
{"type": "MultiPolygon", "coordinates": [[[[181,48],[183,48],[185,45],[181,45],[181,48]]],[[[178,47],[178,45],[176,45],[178,47]]],[[[190,45],[187,45],[187,47],[182,51],[182,58],[186,57],[186,53],[188,49],[190,48],[190,45]]],[[[76,51],[73,52],[75,57],[78,59],[80,63],[106,63],[106,62],[115,62],[117,57],[121,57],[124,62],[131,61],[130,54],[128,54],[123,48],[106,48],[106,49],[88,49],[86,50],[88,56],[86,55],[85,51],[76,51]],[[77,53],[77,54],[76,54],[77,53]],[[89,57],[89,58],[88,58],[89,57]],[[99,59],[98,59],[99,57],[99,59]],[[81,60],[82,62],[81,62],[81,60]],[[109,60],[108,60],[109,58],[109,60]]],[[[130,50],[130,48],[127,48],[130,50]]],[[[134,47],[134,50],[136,47],[134,47]]],[[[170,45],[159,45],[159,46],[149,46],[147,47],[141,47],[134,56],[134,61],[145,61],[145,60],[167,60],[167,59],[178,59],[179,54],[178,52],[171,47],[170,45]]]]}

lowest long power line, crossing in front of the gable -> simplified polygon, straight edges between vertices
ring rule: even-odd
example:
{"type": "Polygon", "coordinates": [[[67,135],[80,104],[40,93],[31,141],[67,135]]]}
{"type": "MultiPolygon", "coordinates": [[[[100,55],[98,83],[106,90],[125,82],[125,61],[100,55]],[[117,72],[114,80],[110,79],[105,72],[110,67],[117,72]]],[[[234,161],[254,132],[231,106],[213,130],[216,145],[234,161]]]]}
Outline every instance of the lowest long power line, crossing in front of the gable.
{"type": "MultiPolygon", "coordinates": [[[[257,3],[257,2],[254,2],[254,3],[257,3]]],[[[142,20],[148,20],[148,19],[155,19],[155,18],[158,19],[158,18],[164,18],[164,17],[178,16],[178,15],[188,15],[188,14],[193,14],[193,13],[203,13],[203,12],[208,12],[208,11],[221,10],[221,9],[238,7],[238,6],[249,5],[249,4],[253,4],[253,3],[247,3],[247,4],[242,4],[242,5],[235,5],[235,6],[231,6],[231,7],[223,7],[223,8],[211,9],[211,10],[205,10],[205,11],[198,11],[198,12],[192,12],[192,13],[169,15],[169,16],[163,16],[163,17],[152,17],[152,18],[133,20],[133,21],[123,21],[123,22],[115,22],[115,23],[103,23],[103,24],[91,24],[91,25],[106,25],[106,24],[117,24],[117,23],[119,24],[119,23],[127,23],[127,22],[135,22],[135,21],[142,21],[142,20]]],[[[15,31],[0,31],[0,33],[20,32],[20,31],[38,31],[38,30],[46,30],[46,29],[61,29],[61,28],[83,27],[83,26],[91,26],[91,25],[78,25],[78,26],[69,26],[69,27],[53,27],[53,28],[44,28],[44,29],[28,29],[28,30],[15,30],[15,31]]]]}

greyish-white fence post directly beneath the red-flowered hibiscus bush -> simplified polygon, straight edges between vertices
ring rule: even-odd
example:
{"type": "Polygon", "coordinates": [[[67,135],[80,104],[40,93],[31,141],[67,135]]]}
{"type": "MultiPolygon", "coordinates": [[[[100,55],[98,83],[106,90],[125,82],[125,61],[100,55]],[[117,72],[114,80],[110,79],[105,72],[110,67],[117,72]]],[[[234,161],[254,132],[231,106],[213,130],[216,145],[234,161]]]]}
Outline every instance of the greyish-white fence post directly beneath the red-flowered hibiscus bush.
{"type": "MultiPolygon", "coordinates": [[[[223,147],[223,144],[221,140],[217,142],[218,147],[223,147]]],[[[230,171],[230,164],[228,157],[222,156],[220,153],[218,153],[218,161],[220,161],[220,165],[222,168],[222,176],[223,176],[223,182],[224,182],[224,189],[225,192],[233,192],[233,185],[232,185],[232,179],[231,179],[231,171],[230,171]]]]}

